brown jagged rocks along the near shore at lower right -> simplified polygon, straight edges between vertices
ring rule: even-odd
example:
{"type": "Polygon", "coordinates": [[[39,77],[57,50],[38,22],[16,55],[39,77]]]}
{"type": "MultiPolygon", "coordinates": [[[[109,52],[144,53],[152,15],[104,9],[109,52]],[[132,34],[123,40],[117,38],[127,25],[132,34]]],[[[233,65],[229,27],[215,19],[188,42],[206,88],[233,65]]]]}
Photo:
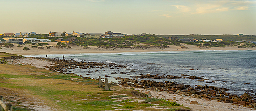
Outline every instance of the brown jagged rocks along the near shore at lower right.
{"type": "MultiPolygon", "coordinates": [[[[143,75],[143,77],[144,76],[145,75],[143,75]]],[[[166,76],[160,76],[159,78],[162,77],[166,76]]],[[[150,80],[138,80],[121,77],[117,77],[115,79],[121,80],[119,84],[126,87],[145,88],[147,90],[154,91],[165,91],[168,93],[176,93],[186,97],[190,96],[192,98],[201,98],[205,99],[206,101],[218,100],[219,102],[223,103],[234,103],[244,105],[245,107],[256,108],[254,107],[254,105],[256,105],[256,96],[254,94],[250,94],[249,92],[245,92],[243,95],[239,96],[226,93],[226,91],[228,91],[228,89],[226,88],[218,88],[207,85],[197,85],[196,87],[192,87],[190,85],[178,84],[171,81],[165,81],[165,83],[163,83],[150,80]]]]}

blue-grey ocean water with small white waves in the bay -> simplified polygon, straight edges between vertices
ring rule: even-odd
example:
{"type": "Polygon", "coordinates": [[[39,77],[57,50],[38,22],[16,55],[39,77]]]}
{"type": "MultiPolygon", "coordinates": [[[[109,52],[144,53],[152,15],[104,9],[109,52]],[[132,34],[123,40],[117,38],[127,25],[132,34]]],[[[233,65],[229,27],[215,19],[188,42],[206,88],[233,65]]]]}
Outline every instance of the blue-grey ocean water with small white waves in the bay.
{"type": "MultiPolygon", "coordinates": [[[[50,58],[62,58],[63,54],[48,54],[50,58]]],[[[185,85],[208,85],[228,88],[231,94],[256,92],[256,51],[252,50],[202,50],[167,52],[129,52],[129,53],[84,53],[64,54],[65,59],[116,63],[127,66],[122,69],[71,69],[75,74],[98,78],[110,76],[109,81],[118,82],[113,77],[131,78],[139,74],[204,76],[206,81],[191,79],[146,79],[154,81],[176,81],[185,85]],[[195,70],[189,70],[195,69],[195,70]],[[95,71],[98,70],[98,71],[95,71]],[[117,74],[111,74],[117,72],[117,74]],[[126,74],[119,74],[125,72],[126,74]],[[89,75],[87,75],[89,74],[89,75]],[[248,84],[245,84],[248,83],[248,84]]],[[[45,55],[23,55],[25,57],[45,57],[45,55]]],[[[140,79],[140,78],[138,78],[140,79]]],[[[143,78],[145,79],[145,78],[143,78]]]]}

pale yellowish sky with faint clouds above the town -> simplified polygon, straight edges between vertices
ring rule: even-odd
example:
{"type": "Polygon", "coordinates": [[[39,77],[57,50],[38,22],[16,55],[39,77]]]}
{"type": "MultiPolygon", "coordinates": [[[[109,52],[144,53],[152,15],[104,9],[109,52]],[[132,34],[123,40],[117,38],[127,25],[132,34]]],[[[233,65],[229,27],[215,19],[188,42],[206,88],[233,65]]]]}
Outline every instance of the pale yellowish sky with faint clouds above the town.
{"type": "Polygon", "coordinates": [[[256,35],[256,0],[0,0],[0,34],[256,35]]]}

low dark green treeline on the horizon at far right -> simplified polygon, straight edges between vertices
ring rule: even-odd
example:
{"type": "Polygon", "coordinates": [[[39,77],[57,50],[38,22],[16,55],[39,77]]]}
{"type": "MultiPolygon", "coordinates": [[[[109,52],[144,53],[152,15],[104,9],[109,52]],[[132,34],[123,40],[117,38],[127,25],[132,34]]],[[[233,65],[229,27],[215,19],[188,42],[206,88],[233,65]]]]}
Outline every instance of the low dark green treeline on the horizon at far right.
{"type": "Polygon", "coordinates": [[[208,40],[215,40],[215,39],[222,39],[225,41],[242,41],[242,40],[252,40],[256,41],[256,35],[156,35],[158,37],[163,37],[166,39],[169,39],[168,37],[178,37],[178,39],[184,39],[184,38],[194,38],[194,39],[202,39],[206,38],[208,40]]]}

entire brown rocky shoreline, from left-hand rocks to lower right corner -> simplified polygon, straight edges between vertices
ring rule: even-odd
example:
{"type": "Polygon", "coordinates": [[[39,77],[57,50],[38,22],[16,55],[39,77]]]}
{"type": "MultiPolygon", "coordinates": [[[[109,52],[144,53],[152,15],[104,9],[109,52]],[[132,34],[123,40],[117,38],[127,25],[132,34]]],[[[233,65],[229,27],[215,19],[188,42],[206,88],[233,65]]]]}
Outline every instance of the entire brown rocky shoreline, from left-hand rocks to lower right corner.
{"type": "MultiPolygon", "coordinates": [[[[36,58],[30,57],[33,59],[40,59],[42,61],[52,62],[52,66],[45,66],[49,70],[57,71],[60,73],[66,74],[74,74],[69,69],[81,68],[81,69],[91,69],[91,68],[111,68],[111,69],[119,69],[119,68],[126,68],[126,66],[118,65],[115,63],[99,63],[99,62],[86,62],[86,61],[75,61],[75,60],[67,60],[67,59],[56,59],[56,58],[36,58]]],[[[191,69],[195,70],[195,69],[191,69]]],[[[121,80],[118,84],[125,86],[125,87],[133,87],[133,88],[143,88],[145,90],[151,91],[159,91],[159,92],[167,92],[170,94],[178,94],[183,97],[191,97],[191,98],[198,98],[198,99],[205,99],[207,101],[217,100],[218,102],[222,103],[232,103],[234,105],[240,104],[247,108],[254,108],[256,109],[256,93],[251,94],[250,92],[245,92],[243,95],[236,95],[227,93],[228,89],[226,88],[218,88],[214,86],[190,86],[184,84],[178,84],[177,82],[172,81],[165,81],[163,82],[156,82],[151,80],[138,80],[138,78],[153,78],[153,79],[182,79],[188,78],[197,81],[205,81],[208,79],[204,79],[203,77],[197,76],[189,76],[189,75],[182,75],[183,77],[179,76],[172,76],[172,75],[143,75],[140,76],[131,76],[134,79],[129,78],[121,78],[116,77],[115,79],[121,80]]],[[[81,76],[82,77],[82,76],[81,76]]],[[[86,79],[91,79],[90,77],[82,77],[86,79]]],[[[206,81],[207,82],[207,81],[206,81]]]]}

